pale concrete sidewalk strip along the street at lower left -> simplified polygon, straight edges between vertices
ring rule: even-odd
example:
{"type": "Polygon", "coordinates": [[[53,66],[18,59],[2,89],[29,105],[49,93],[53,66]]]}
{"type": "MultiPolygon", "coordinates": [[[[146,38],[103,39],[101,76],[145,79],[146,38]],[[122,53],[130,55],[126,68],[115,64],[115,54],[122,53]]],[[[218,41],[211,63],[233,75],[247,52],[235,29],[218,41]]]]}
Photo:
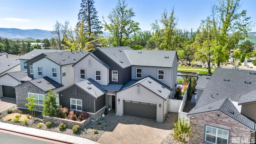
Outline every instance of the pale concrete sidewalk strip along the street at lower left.
{"type": "Polygon", "coordinates": [[[54,140],[56,142],[63,142],[63,143],[70,143],[70,144],[99,144],[92,140],[80,138],[77,136],[60,134],[57,132],[50,132],[47,130],[39,130],[36,128],[28,128],[28,127],[8,124],[4,122],[0,122],[0,129],[8,130],[11,132],[17,132],[19,134],[24,134],[24,136],[34,136],[35,138],[46,138],[49,140],[54,140]]]}

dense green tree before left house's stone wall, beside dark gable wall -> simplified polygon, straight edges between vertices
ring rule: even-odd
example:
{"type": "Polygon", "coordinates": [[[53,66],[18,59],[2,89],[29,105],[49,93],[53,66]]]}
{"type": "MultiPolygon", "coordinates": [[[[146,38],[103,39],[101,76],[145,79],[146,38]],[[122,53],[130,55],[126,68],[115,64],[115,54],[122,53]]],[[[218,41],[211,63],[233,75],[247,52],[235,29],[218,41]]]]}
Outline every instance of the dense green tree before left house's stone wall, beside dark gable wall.
{"type": "Polygon", "coordinates": [[[59,105],[56,101],[58,94],[54,94],[52,90],[49,90],[48,96],[44,99],[44,116],[57,116],[59,105]]]}

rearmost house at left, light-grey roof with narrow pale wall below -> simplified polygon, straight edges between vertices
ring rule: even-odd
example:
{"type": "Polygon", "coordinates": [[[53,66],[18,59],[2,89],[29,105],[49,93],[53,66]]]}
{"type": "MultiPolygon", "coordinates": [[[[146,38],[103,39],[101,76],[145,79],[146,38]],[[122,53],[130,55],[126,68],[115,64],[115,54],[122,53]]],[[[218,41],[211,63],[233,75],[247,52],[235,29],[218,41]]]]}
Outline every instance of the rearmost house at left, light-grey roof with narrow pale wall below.
{"type": "Polygon", "coordinates": [[[47,50],[47,49],[34,49],[31,50],[30,52],[24,54],[19,58],[20,60],[20,70],[26,70],[29,65],[27,65],[26,61],[30,60],[42,53],[48,53],[48,52],[63,52],[66,50],[47,50]]]}

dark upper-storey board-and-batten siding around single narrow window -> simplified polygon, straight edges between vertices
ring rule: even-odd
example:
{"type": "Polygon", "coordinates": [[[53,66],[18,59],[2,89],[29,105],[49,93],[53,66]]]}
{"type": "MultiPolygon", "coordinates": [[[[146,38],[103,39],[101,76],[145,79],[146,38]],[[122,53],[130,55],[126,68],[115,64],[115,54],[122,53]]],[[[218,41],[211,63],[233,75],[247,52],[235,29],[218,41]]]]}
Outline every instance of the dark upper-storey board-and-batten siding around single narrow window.
{"type": "Polygon", "coordinates": [[[122,68],[118,64],[116,64],[113,60],[108,58],[105,54],[103,54],[100,50],[96,50],[93,52],[98,58],[103,60],[108,66],[109,69],[109,83],[110,84],[127,84],[131,80],[131,66],[127,68],[122,68]],[[112,81],[112,70],[118,71],[118,82],[112,81]]]}

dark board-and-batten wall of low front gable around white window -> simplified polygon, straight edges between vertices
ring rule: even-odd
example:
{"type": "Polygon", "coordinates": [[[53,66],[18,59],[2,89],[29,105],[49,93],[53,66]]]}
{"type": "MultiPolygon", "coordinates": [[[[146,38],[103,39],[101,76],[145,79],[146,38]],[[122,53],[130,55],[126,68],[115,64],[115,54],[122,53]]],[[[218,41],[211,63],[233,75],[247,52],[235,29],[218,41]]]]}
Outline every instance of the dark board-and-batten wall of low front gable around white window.
{"type": "Polygon", "coordinates": [[[94,113],[94,97],[74,85],[59,93],[60,105],[70,108],[70,98],[82,100],[82,111],[94,113]]]}

